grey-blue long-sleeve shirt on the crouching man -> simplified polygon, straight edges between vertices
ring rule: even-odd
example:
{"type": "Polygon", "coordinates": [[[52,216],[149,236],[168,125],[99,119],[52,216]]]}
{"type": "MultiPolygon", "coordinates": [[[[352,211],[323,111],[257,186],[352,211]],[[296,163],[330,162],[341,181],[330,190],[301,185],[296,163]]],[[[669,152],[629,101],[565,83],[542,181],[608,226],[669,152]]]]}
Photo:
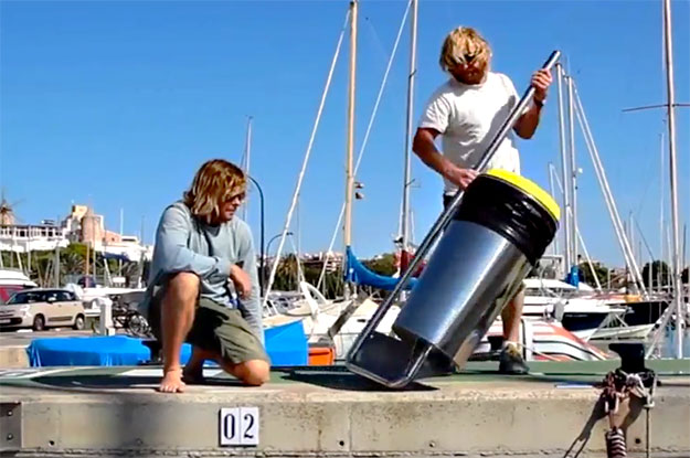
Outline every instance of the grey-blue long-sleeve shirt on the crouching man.
{"type": "Polygon", "coordinates": [[[247,323],[263,341],[262,309],[256,256],[250,226],[237,216],[210,226],[192,216],[183,202],[168,206],[156,232],[149,291],[170,274],[189,271],[201,280],[200,294],[227,307],[240,307],[247,323]],[[238,265],[252,281],[252,291],[237,303],[230,268],[238,265]]]}

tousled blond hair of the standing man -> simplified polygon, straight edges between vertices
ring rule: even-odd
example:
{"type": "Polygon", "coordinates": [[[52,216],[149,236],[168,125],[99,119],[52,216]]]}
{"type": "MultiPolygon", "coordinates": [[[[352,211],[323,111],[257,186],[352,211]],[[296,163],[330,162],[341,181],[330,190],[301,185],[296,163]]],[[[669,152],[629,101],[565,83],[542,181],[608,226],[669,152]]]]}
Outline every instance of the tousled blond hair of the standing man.
{"type": "Polygon", "coordinates": [[[449,72],[458,64],[467,64],[465,56],[473,56],[473,62],[486,67],[491,57],[491,47],[475,29],[459,26],[444,40],[438,63],[444,72],[449,72]]]}

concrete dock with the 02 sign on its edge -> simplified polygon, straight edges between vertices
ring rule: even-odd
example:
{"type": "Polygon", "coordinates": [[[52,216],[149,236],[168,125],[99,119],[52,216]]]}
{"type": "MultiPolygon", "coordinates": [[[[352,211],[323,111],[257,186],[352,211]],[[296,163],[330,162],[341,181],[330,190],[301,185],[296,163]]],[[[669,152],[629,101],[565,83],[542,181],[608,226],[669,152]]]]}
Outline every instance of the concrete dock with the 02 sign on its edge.
{"type": "MultiPolygon", "coordinates": [[[[206,385],[188,386],[179,395],[153,391],[160,368],[2,370],[0,451],[17,457],[604,457],[607,420],[593,384],[616,365],[534,362],[532,374],[509,377],[498,375],[495,363],[470,363],[461,374],[424,380],[402,392],[335,366],[275,371],[258,388],[208,369],[206,385]]],[[[690,360],[650,366],[661,381],[649,414],[651,456],[690,457],[690,360]]],[[[645,456],[646,413],[628,422],[629,456],[645,456]]]]}

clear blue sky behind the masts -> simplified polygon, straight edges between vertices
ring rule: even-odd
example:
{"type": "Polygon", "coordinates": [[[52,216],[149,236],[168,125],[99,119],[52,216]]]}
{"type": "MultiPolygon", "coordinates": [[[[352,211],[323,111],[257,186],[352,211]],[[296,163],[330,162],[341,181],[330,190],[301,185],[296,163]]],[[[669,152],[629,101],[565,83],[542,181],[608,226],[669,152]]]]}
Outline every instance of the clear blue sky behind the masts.
{"type": "MultiPolygon", "coordinates": [[[[690,2],[672,3],[676,96],[688,103],[690,2]]],[[[360,3],[358,146],[405,4],[360,3]]],[[[341,0],[0,2],[0,185],[22,201],[24,223],[64,217],[74,202],[93,204],[117,231],[124,209],[125,231],[138,233],[144,217],[150,243],[160,212],[204,160],[240,161],[252,115],[251,171],[266,194],[267,237],[279,233],[347,9],[341,0]]],[[[666,99],[661,1],[422,0],[415,118],[446,78],[438,51],[459,24],[489,40],[493,70],[520,93],[552,50],[563,51],[619,211],[635,213],[658,256],[665,114],[622,109],[666,99]]],[[[407,45],[405,33],[358,175],[365,199],[355,204],[353,246],[362,257],[392,251],[397,231],[407,45]]],[[[343,46],[302,188],[302,251],[327,247],[343,199],[347,58],[343,46]]],[[[554,85],[535,138],[519,143],[523,174],[546,189],[546,164],[559,163],[555,95],[554,85]]],[[[689,126],[690,109],[678,109],[681,223],[690,215],[689,126]]],[[[576,149],[585,243],[620,265],[580,134],[576,149]]],[[[442,184],[413,163],[420,241],[440,211],[442,184]]],[[[250,205],[257,236],[254,196],[250,205]]]]}

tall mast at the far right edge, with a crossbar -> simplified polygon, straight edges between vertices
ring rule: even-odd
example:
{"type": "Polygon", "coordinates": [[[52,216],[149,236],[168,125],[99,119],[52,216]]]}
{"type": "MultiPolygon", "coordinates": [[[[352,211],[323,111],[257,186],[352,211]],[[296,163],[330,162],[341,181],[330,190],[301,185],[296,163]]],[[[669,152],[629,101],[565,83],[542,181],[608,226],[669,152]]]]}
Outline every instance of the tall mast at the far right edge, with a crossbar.
{"type": "Polygon", "coordinates": [[[673,303],[676,305],[676,358],[682,358],[682,338],[684,318],[682,303],[682,281],[680,271],[680,239],[678,223],[678,164],[676,157],[676,113],[673,104],[676,94],[673,87],[673,40],[671,35],[671,2],[664,0],[664,43],[666,50],[666,87],[668,110],[668,147],[669,171],[671,188],[671,260],[673,270],[673,303]]]}

